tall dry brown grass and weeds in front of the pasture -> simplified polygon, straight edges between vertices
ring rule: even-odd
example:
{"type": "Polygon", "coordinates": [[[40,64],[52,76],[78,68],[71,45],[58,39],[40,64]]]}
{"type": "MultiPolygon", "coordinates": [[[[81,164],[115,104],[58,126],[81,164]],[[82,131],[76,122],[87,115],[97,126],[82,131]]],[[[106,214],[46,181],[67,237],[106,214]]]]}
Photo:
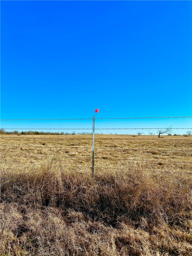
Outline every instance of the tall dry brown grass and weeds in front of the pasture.
{"type": "Polygon", "coordinates": [[[181,174],[5,168],[1,255],[190,256],[191,188],[181,174]]]}

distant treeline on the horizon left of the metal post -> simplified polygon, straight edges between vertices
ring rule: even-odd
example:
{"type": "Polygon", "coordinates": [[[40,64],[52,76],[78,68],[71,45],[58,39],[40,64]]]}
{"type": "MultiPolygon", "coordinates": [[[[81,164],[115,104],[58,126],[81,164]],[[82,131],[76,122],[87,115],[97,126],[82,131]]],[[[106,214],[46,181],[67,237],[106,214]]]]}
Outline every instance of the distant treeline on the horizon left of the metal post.
{"type": "Polygon", "coordinates": [[[92,134],[91,132],[38,132],[38,131],[5,131],[5,129],[0,129],[0,134],[14,134],[14,135],[75,135],[75,134],[92,134]]]}

